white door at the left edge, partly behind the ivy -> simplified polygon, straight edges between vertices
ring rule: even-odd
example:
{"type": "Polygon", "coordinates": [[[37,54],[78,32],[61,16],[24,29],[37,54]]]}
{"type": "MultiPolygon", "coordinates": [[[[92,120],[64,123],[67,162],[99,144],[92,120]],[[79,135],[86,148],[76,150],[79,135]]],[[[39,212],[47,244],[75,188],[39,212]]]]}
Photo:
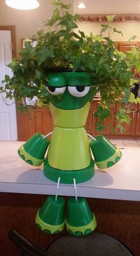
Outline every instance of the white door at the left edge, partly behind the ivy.
{"type": "MultiPolygon", "coordinates": [[[[13,76],[11,69],[7,67],[12,62],[11,43],[11,30],[1,30],[0,27],[0,84],[5,75],[13,76]]],[[[0,94],[0,140],[17,140],[15,103],[7,100],[5,94],[0,94]]]]}

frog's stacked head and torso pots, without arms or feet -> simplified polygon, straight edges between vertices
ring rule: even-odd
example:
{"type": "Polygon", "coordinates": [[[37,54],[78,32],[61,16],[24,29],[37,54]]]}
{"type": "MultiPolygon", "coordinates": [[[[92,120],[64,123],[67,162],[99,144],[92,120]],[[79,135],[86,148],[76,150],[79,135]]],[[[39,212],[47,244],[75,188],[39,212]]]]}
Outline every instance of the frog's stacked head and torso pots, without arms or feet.
{"type": "Polygon", "coordinates": [[[82,72],[55,75],[49,75],[49,86],[65,86],[66,90],[59,97],[50,95],[49,107],[55,128],[44,161],[44,175],[53,181],[61,177],[61,183],[74,183],[74,178],[79,183],[94,175],[94,161],[91,159],[85,123],[95,88],[90,88],[83,97],[75,97],[69,90],[81,85],[89,87],[92,85],[90,76],[82,72]]]}

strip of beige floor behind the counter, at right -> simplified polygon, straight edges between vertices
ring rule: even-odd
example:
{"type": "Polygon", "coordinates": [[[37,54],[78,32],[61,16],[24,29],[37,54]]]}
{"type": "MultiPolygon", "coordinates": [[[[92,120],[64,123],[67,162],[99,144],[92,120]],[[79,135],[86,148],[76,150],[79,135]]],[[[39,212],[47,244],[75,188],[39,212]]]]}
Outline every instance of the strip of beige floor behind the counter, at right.
{"type": "Polygon", "coordinates": [[[111,139],[112,143],[119,147],[140,147],[140,140],[131,140],[131,139],[111,139]]]}

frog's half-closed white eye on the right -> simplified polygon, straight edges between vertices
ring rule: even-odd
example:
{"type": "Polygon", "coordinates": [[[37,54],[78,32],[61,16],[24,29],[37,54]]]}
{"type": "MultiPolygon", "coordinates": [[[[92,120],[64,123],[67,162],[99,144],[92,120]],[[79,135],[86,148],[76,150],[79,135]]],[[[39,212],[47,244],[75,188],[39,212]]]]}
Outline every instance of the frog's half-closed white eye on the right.
{"type": "Polygon", "coordinates": [[[72,96],[83,97],[88,91],[90,91],[90,86],[78,85],[76,87],[68,87],[68,91],[72,96]]]}

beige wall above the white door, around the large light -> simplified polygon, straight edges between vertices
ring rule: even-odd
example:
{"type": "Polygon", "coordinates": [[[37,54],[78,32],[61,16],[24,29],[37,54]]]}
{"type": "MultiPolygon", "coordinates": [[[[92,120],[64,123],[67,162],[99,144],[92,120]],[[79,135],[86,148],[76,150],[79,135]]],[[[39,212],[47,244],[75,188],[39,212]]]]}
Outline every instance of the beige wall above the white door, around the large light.
{"type": "MultiPolygon", "coordinates": [[[[72,4],[73,12],[73,0],[63,2],[72,4]]],[[[30,38],[37,29],[43,29],[44,21],[52,16],[52,0],[41,0],[40,3],[37,9],[23,11],[10,8],[5,4],[5,0],[0,0],[0,26],[15,25],[17,51],[21,48],[21,39],[30,38]]]]}

